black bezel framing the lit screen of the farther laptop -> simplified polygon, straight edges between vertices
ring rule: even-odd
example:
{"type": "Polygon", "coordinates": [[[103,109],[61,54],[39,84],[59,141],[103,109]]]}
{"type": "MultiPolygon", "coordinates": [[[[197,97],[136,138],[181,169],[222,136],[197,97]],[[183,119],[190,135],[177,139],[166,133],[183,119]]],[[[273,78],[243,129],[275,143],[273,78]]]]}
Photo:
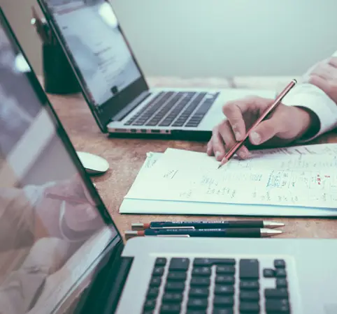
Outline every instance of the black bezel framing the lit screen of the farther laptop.
{"type": "MultiPolygon", "coordinates": [[[[104,1],[108,3],[109,6],[112,6],[109,1],[107,0],[104,1]]],[[[73,73],[76,75],[78,79],[82,94],[85,98],[85,101],[89,105],[92,114],[94,115],[96,123],[98,124],[99,128],[103,133],[107,133],[108,132],[107,125],[112,120],[112,118],[118,112],[123,110],[127,105],[129,105],[129,103],[131,103],[134,99],[140,96],[144,91],[149,90],[148,84],[143,75],[143,71],[141,70],[141,67],[138,64],[136,57],[134,56],[134,52],[128,45],[131,57],[134,60],[134,63],[136,64],[136,68],[138,69],[139,73],[141,73],[141,77],[139,77],[136,81],[132,82],[128,87],[120,91],[118,94],[112,96],[105,103],[100,104],[98,107],[96,107],[94,103],[92,103],[92,101],[90,100],[89,97],[90,92],[87,87],[87,84],[85,84],[85,78],[80,73],[80,69],[76,65],[77,63],[73,57],[73,54],[66,45],[66,40],[62,35],[62,31],[59,29],[59,26],[57,25],[55,18],[53,17],[52,13],[50,12],[50,9],[48,8],[48,5],[45,3],[45,0],[37,0],[37,2],[43,12],[43,15],[45,15],[45,20],[48,22],[50,28],[52,29],[52,35],[55,36],[55,38],[57,38],[57,42],[62,47],[62,50],[64,51],[64,54],[66,55],[66,58],[68,59],[71,68],[73,69],[73,73]],[[100,110],[98,110],[98,108],[100,108],[100,110]]],[[[122,31],[122,27],[120,27],[120,25],[119,29],[122,33],[124,40],[127,41],[127,38],[124,35],[124,32],[122,31]]]]}

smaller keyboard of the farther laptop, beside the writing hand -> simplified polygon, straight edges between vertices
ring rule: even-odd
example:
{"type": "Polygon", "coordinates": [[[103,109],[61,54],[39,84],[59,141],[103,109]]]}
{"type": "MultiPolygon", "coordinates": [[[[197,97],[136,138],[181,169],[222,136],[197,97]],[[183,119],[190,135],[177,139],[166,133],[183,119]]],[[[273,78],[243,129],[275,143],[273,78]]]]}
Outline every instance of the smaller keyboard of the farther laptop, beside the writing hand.
{"type": "Polygon", "coordinates": [[[199,126],[219,93],[160,92],[125,126],[199,126]]]}

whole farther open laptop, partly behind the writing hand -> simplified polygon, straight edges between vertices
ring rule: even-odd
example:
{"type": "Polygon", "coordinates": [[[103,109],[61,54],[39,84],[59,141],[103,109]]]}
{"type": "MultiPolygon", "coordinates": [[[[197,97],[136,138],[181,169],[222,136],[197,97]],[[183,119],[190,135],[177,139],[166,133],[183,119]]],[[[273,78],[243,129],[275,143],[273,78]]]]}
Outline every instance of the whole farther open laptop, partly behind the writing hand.
{"type": "Polygon", "coordinates": [[[266,90],[149,89],[109,1],[38,3],[103,132],[206,140],[227,101],[275,96],[266,90]]]}

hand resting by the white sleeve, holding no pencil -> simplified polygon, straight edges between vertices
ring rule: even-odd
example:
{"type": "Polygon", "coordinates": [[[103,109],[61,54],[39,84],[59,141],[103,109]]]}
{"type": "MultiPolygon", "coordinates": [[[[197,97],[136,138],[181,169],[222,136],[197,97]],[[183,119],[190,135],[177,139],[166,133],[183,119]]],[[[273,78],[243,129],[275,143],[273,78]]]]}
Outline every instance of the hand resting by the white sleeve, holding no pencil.
{"type": "Polygon", "coordinates": [[[322,89],[337,104],[337,57],[316,63],[304,75],[303,82],[322,89]]]}

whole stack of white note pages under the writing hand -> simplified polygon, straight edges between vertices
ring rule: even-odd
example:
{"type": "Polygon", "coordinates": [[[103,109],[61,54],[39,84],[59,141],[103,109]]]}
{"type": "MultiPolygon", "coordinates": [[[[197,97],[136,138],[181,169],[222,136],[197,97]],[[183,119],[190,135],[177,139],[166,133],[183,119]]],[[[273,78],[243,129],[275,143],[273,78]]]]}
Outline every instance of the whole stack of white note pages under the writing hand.
{"type": "Polygon", "coordinates": [[[120,213],[335,216],[337,144],[254,151],[219,170],[204,153],[151,153],[120,213]]]}

